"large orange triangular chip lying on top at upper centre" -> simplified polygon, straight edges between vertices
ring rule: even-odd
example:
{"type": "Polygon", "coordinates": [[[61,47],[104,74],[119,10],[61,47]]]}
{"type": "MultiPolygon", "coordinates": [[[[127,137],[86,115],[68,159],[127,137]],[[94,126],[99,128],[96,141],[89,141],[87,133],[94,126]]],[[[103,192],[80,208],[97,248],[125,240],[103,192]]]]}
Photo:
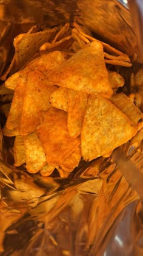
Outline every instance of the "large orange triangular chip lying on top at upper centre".
{"type": "Polygon", "coordinates": [[[48,82],[85,93],[101,93],[105,98],[110,98],[113,91],[108,80],[102,44],[96,41],[87,44],[55,68],[49,74],[48,82]]]}

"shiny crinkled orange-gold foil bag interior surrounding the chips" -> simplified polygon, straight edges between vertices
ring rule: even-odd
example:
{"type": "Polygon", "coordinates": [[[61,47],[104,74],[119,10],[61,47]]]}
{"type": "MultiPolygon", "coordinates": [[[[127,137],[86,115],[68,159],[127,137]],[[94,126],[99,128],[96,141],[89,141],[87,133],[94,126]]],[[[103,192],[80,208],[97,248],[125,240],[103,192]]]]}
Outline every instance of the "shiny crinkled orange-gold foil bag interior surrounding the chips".
{"type": "MultiPolygon", "coordinates": [[[[7,0],[0,1],[1,73],[12,60],[16,35],[33,24],[67,21],[84,24],[141,62],[123,1],[7,0]]],[[[131,70],[124,73],[128,79],[131,70]]],[[[112,157],[81,162],[63,179],[56,172],[42,177],[10,166],[8,141],[0,134],[1,255],[143,254],[142,135],[112,157]]]]}

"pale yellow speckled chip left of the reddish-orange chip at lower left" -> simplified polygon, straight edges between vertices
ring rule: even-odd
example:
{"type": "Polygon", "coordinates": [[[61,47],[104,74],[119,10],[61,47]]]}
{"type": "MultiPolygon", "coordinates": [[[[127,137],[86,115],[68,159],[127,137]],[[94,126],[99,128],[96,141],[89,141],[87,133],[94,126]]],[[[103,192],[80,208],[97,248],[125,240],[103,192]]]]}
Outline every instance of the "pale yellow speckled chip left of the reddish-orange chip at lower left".
{"type": "Polygon", "coordinates": [[[36,173],[47,163],[41,141],[36,132],[24,136],[26,168],[28,172],[36,173]]]}

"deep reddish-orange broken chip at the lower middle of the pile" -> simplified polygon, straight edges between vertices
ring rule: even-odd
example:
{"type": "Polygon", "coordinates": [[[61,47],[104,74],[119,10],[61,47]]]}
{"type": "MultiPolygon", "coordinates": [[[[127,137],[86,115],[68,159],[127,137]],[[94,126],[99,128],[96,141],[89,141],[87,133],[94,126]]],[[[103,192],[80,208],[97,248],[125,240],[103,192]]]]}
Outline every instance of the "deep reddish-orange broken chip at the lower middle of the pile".
{"type": "Polygon", "coordinates": [[[68,135],[67,113],[56,108],[48,110],[38,132],[47,163],[52,166],[60,166],[80,144],[79,137],[68,135]]]}

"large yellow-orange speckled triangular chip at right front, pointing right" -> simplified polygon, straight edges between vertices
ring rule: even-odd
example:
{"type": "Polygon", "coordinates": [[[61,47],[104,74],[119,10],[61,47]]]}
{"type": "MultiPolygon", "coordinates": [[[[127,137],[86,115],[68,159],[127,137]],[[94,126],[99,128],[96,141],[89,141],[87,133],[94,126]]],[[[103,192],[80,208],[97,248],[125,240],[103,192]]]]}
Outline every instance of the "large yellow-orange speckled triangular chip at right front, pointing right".
{"type": "Polygon", "coordinates": [[[128,116],[111,101],[90,96],[81,132],[84,160],[107,154],[130,140],[137,130],[128,116]]]}

